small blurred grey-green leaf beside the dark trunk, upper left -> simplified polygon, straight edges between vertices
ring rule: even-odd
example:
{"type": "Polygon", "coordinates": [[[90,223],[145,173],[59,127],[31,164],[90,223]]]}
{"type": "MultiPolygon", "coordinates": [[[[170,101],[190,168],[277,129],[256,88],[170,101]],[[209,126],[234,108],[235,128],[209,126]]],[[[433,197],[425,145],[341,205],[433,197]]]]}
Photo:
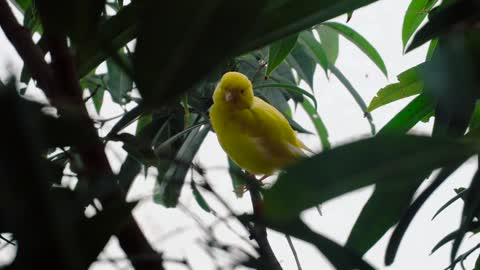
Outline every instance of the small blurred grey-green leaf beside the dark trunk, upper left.
{"type": "MultiPolygon", "coordinates": [[[[126,60],[125,53],[120,53],[119,57],[126,60]]],[[[107,86],[112,100],[117,104],[125,104],[125,95],[132,90],[133,82],[128,74],[113,60],[107,60],[108,79],[107,86]]]]}

